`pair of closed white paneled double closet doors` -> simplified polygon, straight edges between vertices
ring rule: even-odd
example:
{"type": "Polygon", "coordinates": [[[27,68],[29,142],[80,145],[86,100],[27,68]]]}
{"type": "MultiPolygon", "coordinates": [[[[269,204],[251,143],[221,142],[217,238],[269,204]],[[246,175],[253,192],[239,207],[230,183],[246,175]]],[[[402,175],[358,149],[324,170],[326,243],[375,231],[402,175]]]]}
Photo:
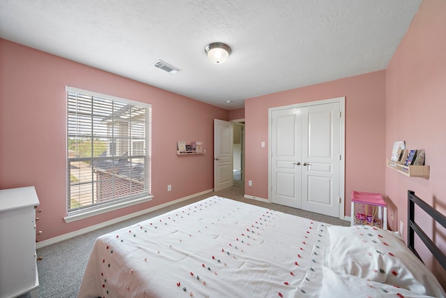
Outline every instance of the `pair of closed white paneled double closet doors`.
{"type": "Polygon", "coordinates": [[[323,101],[271,109],[270,198],[339,217],[339,198],[344,197],[341,104],[323,101]]]}

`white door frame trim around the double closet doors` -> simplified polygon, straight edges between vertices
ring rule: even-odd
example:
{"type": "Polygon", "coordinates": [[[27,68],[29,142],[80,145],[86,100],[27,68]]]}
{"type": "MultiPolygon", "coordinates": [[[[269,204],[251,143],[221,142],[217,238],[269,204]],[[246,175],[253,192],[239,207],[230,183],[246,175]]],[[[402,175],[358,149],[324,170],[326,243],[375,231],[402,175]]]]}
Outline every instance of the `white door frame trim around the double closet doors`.
{"type": "MultiPolygon", "coordinates": [[[[323,105],[326,103],[339,103],[341,115],[340,115],[340,140],[339,140],[339,153],[341,162],[339,163],[339,218],[345,218],[345,97],[330,98],[324,100],[310,101],[308,103],[298,103],[294,105],[285,105],[282,107],[270,107],[268,109],[268,144],[271,144],[272,140],[272,112],[277,110],[291,109],[295,107],[308,107],[310,105],[323,105]]],[[[271,158],[272,148],[268,146],[268,202],[272,202],[272,177],[271,177],[271,158]]]]}

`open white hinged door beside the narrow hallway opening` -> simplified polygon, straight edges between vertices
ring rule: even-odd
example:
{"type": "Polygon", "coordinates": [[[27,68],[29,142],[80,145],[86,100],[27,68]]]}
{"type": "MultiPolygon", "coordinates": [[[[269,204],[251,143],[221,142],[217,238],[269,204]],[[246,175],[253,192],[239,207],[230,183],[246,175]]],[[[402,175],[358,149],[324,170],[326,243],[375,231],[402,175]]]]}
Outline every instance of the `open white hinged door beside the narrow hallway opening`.
{"type": "Polygon", "coordinates": [[[233,124],[214,119],[214,191],[233,183],[233,124]]]}

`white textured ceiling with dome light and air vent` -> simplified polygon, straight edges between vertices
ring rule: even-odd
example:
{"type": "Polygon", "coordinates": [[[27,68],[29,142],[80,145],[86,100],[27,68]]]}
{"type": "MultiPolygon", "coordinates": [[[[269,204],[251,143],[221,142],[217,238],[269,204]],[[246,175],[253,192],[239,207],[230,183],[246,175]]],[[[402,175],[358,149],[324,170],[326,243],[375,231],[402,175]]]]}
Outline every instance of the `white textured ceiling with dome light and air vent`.
{"type": "Polygon", "coordinates": [[[234,110],[385,69],[421,2],[0,0],[0,37],[234,110]],[[225,64],[207,59],[213,42],[231,46],[225,64]],[[158,59],[181,71],[155,68],[158,59]]]}

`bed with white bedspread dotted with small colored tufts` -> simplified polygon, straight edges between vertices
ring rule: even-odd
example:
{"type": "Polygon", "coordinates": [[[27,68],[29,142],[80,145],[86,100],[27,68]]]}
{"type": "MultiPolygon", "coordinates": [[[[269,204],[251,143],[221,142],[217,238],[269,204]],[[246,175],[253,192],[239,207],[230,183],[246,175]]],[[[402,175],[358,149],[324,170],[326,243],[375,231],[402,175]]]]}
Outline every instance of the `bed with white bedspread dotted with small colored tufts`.
{"type": "Polygon", "coordinates": [[[96,239],[91,297],[446,297],[394,232],[217,196],[96,239]]]}

